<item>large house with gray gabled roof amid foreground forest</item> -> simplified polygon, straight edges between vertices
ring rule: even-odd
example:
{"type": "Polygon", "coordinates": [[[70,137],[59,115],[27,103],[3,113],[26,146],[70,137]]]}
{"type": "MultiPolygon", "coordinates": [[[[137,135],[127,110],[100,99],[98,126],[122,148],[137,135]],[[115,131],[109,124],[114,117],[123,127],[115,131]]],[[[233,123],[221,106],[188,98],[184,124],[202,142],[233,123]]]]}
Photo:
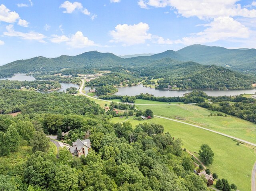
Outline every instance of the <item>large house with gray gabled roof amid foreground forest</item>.
{"type": "Polygon", "coordinates": [[[75,142],[72,142],[72,147],[69,148],[70,153],[72,156],[82,156],[85,157],[88,155],[88,151],[91,148],[90,139],[80,140],[77,139],[75,142]]]}

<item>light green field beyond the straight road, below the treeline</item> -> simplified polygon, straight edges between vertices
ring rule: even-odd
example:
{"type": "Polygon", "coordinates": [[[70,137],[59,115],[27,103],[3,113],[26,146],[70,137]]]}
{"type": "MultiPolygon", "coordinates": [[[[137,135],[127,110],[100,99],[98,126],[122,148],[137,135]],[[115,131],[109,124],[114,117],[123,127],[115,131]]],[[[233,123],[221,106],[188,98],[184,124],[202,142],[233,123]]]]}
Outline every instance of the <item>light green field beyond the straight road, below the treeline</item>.
{"type": "MultiPolygon", "coordinates": [[[[137,105],[140,110],[149,108],[137,105]]],[[[150,106],[155,115],[165,116],[196,124],[211,130],[222,132],[252,143],[256,143],[256,124],[233,116],[208,116],[216,111],[210,111],[196,105],[160,105],[150,106]]],[[[225,114],[224,114],[225,115],[225,114]]]]}

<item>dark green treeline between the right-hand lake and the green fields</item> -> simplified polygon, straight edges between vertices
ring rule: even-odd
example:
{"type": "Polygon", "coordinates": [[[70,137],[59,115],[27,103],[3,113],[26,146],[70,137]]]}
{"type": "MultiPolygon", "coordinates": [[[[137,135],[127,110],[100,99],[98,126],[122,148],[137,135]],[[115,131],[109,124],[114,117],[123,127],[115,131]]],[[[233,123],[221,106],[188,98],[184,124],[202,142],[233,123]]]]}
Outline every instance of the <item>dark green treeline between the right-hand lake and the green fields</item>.
{"type": "Polygon", "coordinates": [[[159,102],[184,102],[184,103],[198,103],[204,102],[204,99],[208,96],[202,91],[192,91],[191,93],[187,93],[184,97],[156,97],[151,94],[143,94],[136,96],[120,96],[120,95],[104,95],[99,96],[101,99],[109,100],[109,99],[120,99],[122,102],[134,103],[136,99],[144,99],[144,100],[152,100],[159,102]]]}

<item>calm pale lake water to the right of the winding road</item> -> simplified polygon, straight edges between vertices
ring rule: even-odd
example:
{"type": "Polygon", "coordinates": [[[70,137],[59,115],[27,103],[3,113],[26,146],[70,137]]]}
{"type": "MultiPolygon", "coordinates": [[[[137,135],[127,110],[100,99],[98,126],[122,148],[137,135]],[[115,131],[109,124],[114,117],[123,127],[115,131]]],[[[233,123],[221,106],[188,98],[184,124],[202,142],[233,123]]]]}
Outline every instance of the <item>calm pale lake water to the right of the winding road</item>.
{"type": "MultiPolygon", "coordinates": [[[[90,87],[86,87],[85,90],[88,91],[90,87]]],[[[150,89],[147,87],[143,87],[142,85],[131,86],[131,87],[118,87],[118,92],[115,95],[129,95],[135,96],[140,93],[149,93],[154,96],[166,96],[166,97],[177,97],[183,96],[185,93],[192,92],[192,90],[180,90],[180,91],[166,91],[166,90],[156,90],[150,89]]],[[[240,94],[254,94],[256,93],[256,89],[250,90],[202,90],[209,96],[234,96],[240,94]]]]}

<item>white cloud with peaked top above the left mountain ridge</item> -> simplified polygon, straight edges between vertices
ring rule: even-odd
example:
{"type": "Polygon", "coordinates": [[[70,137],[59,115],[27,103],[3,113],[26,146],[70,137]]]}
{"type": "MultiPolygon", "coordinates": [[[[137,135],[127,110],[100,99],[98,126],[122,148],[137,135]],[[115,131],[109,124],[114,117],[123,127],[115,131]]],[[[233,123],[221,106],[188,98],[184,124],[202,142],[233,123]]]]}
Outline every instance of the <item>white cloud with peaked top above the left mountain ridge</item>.
{"type": "Polygon", "coordinates": [[[66,42],[72,48],[84,48],[89,46],[98,46],[94,41],[89,40],[88,37],[84,36],[82,32],[78,31],[75,34],[67,37],[66,35],[52,35],[50,39],[52,43],[66,42]]]}

